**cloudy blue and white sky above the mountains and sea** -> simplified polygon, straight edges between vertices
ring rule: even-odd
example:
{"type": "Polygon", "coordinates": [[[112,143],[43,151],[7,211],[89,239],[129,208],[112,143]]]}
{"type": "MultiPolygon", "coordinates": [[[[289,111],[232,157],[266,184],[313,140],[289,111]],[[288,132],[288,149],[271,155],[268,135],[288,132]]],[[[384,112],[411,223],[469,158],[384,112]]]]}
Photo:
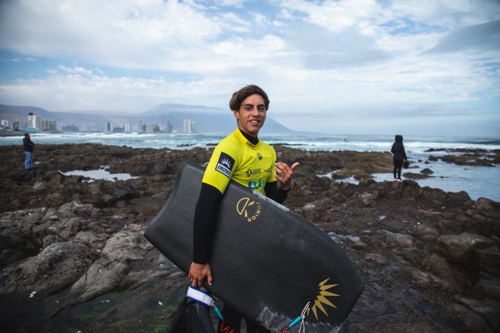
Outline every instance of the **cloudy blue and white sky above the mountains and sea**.
{"type": "Polygon", "coordinates": [[[294,130],[500,136],[500,1],[0,1],[2,104],[228,109],[248,83],[294,130]]]}

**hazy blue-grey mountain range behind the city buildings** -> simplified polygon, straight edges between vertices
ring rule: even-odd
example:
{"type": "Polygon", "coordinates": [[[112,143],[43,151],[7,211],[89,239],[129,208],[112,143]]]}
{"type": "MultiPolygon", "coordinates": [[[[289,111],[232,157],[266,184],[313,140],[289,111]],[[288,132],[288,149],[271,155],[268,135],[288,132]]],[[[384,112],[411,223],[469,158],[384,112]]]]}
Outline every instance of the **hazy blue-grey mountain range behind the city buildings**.
{"type": "MultiPolygon", "coordinates": [[[[105,110],[52,112],[35,106],[14,106],[0,104],[0,119],[8,120],[10,124],[14,120],[27,122],[28,113],[41,116],[42,119],[55,120],[57,127],[74,124],[81,126],[86,124],[104,124],[110,122],[113,126],[118,123],[130,123],[130,128],[135,129],[139,121],[150,125],[157,123],[163,128],[167,121],[173,126],[173,130],[182,131],[183,120],[191,119],[197,122],[199,133],[228,133],[236,127],[236,121],[231,111],[202,105],[185,105],[163,103],[141,113],[109,112],[105,110]]],[[[284,134],[292,133],[293,130],[281,125],[271,117],[265,120],[265,126],[261,133],[284,134]]]]}

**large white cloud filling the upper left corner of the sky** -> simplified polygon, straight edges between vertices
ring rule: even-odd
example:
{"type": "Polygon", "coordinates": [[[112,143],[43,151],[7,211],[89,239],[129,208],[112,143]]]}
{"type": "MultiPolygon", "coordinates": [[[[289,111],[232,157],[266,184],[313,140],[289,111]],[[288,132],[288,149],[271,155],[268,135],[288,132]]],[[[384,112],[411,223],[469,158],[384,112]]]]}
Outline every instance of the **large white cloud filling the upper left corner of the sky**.
{"type": "Polygon", "coordinates": [[[219,23],[175,0],[4,1],[0,9],[5,48],[128,68],[152,68],[172,50],[202,46],[221,32],[219,23]]]}

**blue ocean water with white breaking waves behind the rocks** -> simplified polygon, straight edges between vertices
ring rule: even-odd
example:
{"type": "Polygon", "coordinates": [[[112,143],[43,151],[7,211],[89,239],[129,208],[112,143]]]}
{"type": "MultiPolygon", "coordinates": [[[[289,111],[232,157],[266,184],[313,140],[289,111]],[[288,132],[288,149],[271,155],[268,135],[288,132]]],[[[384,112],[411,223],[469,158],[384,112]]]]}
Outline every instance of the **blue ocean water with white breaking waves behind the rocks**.
{"type": "MultiPolygon", "coordinates": [[[[103,143],[134,148],[190,149],[194,146],[209,148],[219,142],[227,133],[186,134],[186,133],[33,133],[35,143],[103,143]]],[[[281,143],[304,150],[354,150],[390,151],[393,135],[328,135],[328,134],[271,134],[260,139],[269,144],[281,143]]],[[[0,144],[21,144],[21,136],[0,137],[0,144]]],[[[426,152],[434,149],[500,149],[500,137],[468,136],[404,136],[404,147],[410,160],[408,171],[419,173],[425,167],[434,173],[432,177],[418,179],[420,186],[441,188],[445,191],[467,191],[472,199],[487,197],[500,201],[500,166],[463,166],[441,160],[424,164],[429,155],[436,157],[450,154],[445,151],[426,152]],[[421,162],[418,162],[421,160],[421,162]]],[[[35,154],[36,158],[36,154],[35,154]]],[[[331,170],[334,171],[334,170],[331,170]]],[[[403,169],[404,172],[404,169],[403,169]]],[[[392,173],[374,174],[376,181],[392,180],[392,173]]],[[[344,181],[355,182],[354,179],[344,181]]]]}

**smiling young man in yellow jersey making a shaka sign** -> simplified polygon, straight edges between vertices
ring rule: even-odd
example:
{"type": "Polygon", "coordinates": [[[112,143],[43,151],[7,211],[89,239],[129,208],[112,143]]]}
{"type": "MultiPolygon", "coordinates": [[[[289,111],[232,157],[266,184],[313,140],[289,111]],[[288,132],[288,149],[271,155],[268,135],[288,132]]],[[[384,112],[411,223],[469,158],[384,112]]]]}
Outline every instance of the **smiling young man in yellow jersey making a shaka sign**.
{"type": "MultiPolygon", "coordinates": [[[[229,179],[282,203],[291,188],[293,171],[298,165],[298,162],[291,166],[276,162],[274,148],[258,139],[258,131],[264,124],[269,108],[269,99],[264,90],[256,85],[246,85],[232,94],[229,107],[238,128],[223,138],[213,150],[194,212],[193,262],[188,278],[198,288],[205,277],[208,284],[211,285],[213,281],[209,259],[215,212],[229,179]]],[[[241,287],[244,288],[244,285],[241,287]]],[[[219,321],[218,331],[239,331],[241,314],[224,305],[222,316],[224,327],[219,321]]],[[[269,332],[251,320],[245,318],[245,321],[247,333],[269,332]]]]}

